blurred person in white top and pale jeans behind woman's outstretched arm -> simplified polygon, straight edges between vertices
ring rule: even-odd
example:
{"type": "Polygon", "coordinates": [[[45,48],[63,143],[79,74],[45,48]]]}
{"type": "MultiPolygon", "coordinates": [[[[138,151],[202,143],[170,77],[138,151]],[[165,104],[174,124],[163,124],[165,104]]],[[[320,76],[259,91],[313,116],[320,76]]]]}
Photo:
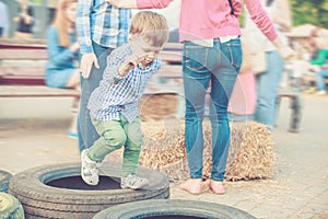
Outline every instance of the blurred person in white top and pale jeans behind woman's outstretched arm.
{"type": "MultiPolygon", "coordinates": [[[[278,35],[283,39],[283,44],[288,46],[288,39],[283,32],[291,27],[291,12],[288,0],[261,0],[262,5],[272,20],[278,35]]],[[[250,14],[251,15],[251,14],[250,14]]],[[[247,21],[247,20],[246,20],[247,21]]],[[[251,22],[246,22],[245,30],[249,28],[251,22]]],[[[257,104],[254,119],[268,126],[270,131],[273,130],[276,124],[276,100],[278,96],[278,88],[284,71],[284,61],[281,54],[274,45],[267,38],[260,39],[261,33],[253,34],[253,38],[257,42],[257,49],[262,54],[263,69],[256,74],[256,93],[257,104]]],[[[255,48],[253,46],[253,48],[255,48]]],[[[260,60],[257,60],[260,65],[260,60]]]]}

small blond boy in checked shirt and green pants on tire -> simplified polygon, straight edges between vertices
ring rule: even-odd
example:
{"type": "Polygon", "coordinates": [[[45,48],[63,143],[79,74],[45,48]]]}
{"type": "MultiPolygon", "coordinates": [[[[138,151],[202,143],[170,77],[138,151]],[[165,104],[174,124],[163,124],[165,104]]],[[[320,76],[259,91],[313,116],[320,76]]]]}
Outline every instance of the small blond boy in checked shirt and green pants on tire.
{"type": "Polygon", "coordinates": [[[138,189],[149,184],[147,178],[137,175],[142,145],[138,102],[152,74],[161,67],[157,55],[167,39],[165,18],[142,11],[132,19],[128,44],[108,56],[103,80],[87,104],[101,137],[81,152],[81,175],[86,184],[98,184],[101,162],[122,146],[121,188],[138,189]]]}

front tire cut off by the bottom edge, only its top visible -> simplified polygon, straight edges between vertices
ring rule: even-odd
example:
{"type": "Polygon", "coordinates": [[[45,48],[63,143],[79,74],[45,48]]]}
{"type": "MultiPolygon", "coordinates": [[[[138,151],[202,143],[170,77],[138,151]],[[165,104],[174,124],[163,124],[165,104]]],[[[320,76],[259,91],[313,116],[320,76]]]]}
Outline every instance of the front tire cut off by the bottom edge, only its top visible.
{"type": "Polygon", "coordinates": [[[255,219],[254,216],[225,205],[197,200],[141,200],[102,210],[93,219],[131,218],[199,218],[199,219],[255,219]]]}

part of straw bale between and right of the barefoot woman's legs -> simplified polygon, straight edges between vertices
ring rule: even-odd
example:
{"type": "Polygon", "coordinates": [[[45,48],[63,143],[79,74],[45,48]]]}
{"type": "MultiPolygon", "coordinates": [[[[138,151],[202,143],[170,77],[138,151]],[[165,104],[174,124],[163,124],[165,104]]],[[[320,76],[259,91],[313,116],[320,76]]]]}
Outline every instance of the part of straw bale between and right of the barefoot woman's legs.
{"type": "MultiPolygon", "coordinates": [[[[210,137],[210,136],[209,136],[210,137]]],[[[210,176],[211,152],[206,146],[203,175],[210,176]]],[[[225,180],[268,178],[273,174],[276,162],[273,140],[268,128],[259,123],[231,123],[231,145],[225,180]]]]}

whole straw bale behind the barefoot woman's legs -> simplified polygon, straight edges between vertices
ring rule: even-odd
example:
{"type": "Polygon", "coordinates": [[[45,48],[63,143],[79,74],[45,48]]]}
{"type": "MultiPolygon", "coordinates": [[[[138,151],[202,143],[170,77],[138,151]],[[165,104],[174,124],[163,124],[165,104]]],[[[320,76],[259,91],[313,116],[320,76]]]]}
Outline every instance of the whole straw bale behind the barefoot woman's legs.
{"type": "MultiPolygon", "coordinates": [[[[140,165],[159,170],[171,182],[188,178],[184,122],[176,119],[143,123],[144,148],[140,165]]],[[[211,171],[211,128],[203,123],[203,176],[211,171]]],[[[231,123],[231,146],[225,178],[227,181],[267,178],[274,165],[273,140],[265,125],[256,122],[231,123]]]]}

